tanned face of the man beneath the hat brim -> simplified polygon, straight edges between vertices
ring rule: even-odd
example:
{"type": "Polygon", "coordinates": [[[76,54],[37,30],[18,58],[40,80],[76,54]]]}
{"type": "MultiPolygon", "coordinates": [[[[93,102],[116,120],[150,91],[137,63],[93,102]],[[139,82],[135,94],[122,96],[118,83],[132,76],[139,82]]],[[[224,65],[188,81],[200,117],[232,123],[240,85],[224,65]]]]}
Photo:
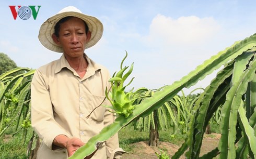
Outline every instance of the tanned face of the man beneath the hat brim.
{"type": "Polygon", "coordinates": [[[61,23],[59,37],[55,38],[55,43],[61,46],[65,56],[76,58],[83,56],[85,44],[90,39],[90,32],[86,35],[85,23],[82,19],[72,17],[61,23]]]}

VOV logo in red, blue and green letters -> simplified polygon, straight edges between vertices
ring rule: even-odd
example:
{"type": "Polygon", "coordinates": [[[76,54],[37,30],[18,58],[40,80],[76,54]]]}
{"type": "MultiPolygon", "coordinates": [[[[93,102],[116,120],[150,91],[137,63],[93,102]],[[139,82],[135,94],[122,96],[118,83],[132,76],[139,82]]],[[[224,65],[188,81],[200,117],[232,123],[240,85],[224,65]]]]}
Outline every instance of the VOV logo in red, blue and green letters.
{"type": "Polygon", "coordinates": [[[37,15],[41,6],[37,6],[38,9],[36,10],[36,6],[9,6],[11,14],[13,14],[14,20],[16,20],[17,16],[19,15],[20,19],[27,20],[33,16],[34,20],[37,19],[37,15]],[[17,8],[17,10],[16,10],[17,8]]]}

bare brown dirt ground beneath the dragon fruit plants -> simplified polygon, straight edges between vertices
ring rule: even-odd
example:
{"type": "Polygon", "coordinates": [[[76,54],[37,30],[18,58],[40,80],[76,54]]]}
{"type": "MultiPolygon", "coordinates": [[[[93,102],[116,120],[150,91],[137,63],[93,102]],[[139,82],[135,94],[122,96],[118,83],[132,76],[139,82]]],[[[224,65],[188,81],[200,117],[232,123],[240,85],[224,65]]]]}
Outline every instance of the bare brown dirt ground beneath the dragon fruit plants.
{"type": "MultiPolygon", "coordinates": [[[[218,146],[219,139],[220,134],[212,133],[210,135],[204,135],[200,156],[215,149],[218,146]]],[[[159,153],[159,149],[167,150],[168,154],[170,154],[171,157],[179,149],[179,145],[169,142],[160,142],[159,147],[150,147],[148,145],[148,141],[141,141],[133,144],[137,151],[133,153],[123,154],[122,159],[155,159],[157,158],[155,152],[159,153]]],[[[181,158],[185,157],[182,156],[181,158]]]]}

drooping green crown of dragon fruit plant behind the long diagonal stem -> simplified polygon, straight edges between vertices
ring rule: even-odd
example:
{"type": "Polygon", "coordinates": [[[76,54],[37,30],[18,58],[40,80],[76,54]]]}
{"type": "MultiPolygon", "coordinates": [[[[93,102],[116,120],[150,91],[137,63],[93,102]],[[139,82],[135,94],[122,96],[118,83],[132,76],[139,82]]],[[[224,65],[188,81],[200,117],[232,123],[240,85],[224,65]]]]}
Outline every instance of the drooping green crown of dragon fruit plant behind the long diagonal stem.
{"type": "MultiPolygon", "coordinates": [[[[146,98],[152,97],[155,92],[161,89],[163,88],[141,92],[141,98],[135,100],[134,104],[139,104],[146,98]]],[[[196,88],[195,90],[198,89],[204,90],[203,88],[196,88]]],[[[187,134],[192,110],[195,101],[199,98],[199,95],[193,94],[195,90],[192,90],[188,96],[185,96],[181,90],[182,95],[176,95],[171,100],[166,101],[157,111],[153,111],[148,116],[136,118],[132,122],[134,129],[150,131],[150,128],[152,128],[159,131],[161,129],[168,130],[172,128],[172,135],[177,134],[177,132],[187,134]]]]}

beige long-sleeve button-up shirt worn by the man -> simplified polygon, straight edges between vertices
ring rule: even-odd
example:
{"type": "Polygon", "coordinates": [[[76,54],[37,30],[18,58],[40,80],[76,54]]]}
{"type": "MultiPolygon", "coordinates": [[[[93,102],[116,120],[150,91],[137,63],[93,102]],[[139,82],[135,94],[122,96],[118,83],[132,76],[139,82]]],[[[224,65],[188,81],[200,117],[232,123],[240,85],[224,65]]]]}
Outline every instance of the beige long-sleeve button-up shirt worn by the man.
{"type": "MultiPolygon", "coordinates": [[[[86,55],[85,58],[88,67],[82,79],[70,67],[64,55],[34,73],[31,123],[42,139],[38,159],[67,158],[66,149],[52,150],[56,136],[77,137],[86,143],[114,121],[113,114],[102,106],[86,118],[103,101],[110,76],[106,68],[86,55]]],[[[106,99],[103,104],[110,103],[106,99]]],[[[114,156],[116,150],[120,150],[117,135],[106,141],[92,158],[108,158],[114,156]]]]}

